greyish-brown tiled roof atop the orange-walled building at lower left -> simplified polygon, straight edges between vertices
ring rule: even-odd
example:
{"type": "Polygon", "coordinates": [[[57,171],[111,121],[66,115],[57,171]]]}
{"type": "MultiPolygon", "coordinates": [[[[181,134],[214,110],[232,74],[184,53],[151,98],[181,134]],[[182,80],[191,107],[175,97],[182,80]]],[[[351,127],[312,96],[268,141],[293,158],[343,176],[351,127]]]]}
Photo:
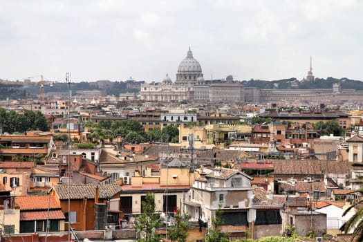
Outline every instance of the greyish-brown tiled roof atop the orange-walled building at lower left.
{"type": "MultiPolygon", "coordinates": [[[[93,199],[97,185],[57,185],[53,187],[60,200],[70,199],[93,199]]],[[[109,198],[121,192],[120,185],[102,184],[98,185],[100,191],[99,198],[109,198]]]]}

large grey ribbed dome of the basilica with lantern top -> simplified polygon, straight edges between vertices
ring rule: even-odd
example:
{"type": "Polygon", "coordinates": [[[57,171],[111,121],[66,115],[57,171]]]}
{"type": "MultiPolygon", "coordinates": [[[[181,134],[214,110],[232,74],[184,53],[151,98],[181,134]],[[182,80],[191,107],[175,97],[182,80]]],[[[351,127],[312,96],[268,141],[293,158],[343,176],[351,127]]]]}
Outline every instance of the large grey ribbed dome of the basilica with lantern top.
{"type": "Polygon", "coordinates": [[[187,57],[180,62],[178,73],[176,73],[176,83],[195,83],[198,77],[203,77],[201,64],[194,59],[192,50],[187,52],[187,57]]]}

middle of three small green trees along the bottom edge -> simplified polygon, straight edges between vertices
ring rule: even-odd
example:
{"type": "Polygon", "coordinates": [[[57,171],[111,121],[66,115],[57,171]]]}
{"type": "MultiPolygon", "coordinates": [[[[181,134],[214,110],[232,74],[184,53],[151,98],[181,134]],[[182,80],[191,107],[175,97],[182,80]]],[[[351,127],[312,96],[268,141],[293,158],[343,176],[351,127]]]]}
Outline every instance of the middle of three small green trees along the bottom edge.
{"type": "Polygon", "coordinates": [[[182,214],[180,210],[175,214],[175,223],[167,230],[171,241],[186,242],[189,229],[189,214],[182,214]]]}

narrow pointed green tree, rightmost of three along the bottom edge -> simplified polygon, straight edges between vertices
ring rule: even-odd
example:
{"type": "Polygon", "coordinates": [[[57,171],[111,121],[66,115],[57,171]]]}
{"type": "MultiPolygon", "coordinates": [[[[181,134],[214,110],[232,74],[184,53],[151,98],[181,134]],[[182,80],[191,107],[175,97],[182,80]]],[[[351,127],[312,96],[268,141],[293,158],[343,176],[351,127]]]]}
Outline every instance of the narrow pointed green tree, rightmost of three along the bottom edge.
{"type": "Polygon", "coordinates": [[[214,217],[212,218],[212,227],[208,229],[208,233],[205,236],[205,242],[228,242],[228,233],[221,232],[221,230],[218,228],[221,225],[223,225],[223,218],[222,214],[223,211],[221,210],[221,203],[218,205],[218,209],[216,210],[216,213],[214,217]]]}

